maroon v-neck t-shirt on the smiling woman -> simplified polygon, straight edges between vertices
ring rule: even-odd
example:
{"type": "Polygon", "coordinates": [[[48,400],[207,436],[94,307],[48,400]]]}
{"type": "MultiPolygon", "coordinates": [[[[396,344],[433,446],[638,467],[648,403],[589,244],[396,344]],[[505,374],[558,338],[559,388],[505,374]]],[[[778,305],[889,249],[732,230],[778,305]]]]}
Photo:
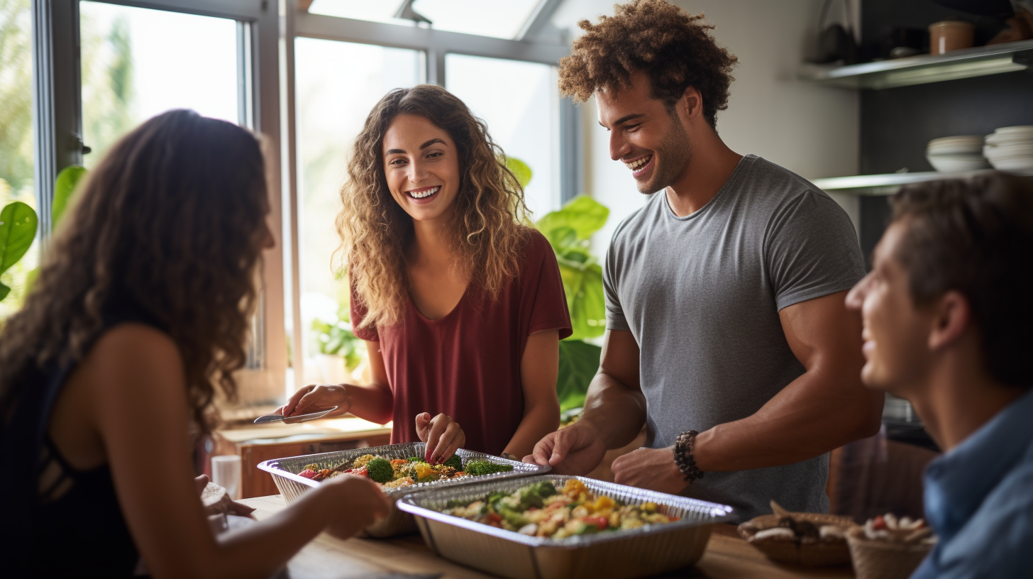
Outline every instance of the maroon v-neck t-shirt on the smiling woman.
{"type": "Polygon", "coordinates": [[[500,454],[524,418],[521,360],[527,338],[559,330],[570,313],[549,241],[531,230],[520,274],[493,300],[471,282],[456,308],[428,319],[409,299],[402,324],[358,329],[366,309],[352,294],[355,335],[379,341],[395,396],[392,443],[417,441],[415,417],[444,413],[466,433],[466,449],[500,454]]]}

